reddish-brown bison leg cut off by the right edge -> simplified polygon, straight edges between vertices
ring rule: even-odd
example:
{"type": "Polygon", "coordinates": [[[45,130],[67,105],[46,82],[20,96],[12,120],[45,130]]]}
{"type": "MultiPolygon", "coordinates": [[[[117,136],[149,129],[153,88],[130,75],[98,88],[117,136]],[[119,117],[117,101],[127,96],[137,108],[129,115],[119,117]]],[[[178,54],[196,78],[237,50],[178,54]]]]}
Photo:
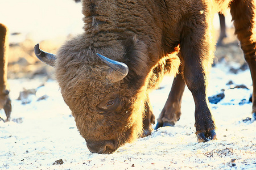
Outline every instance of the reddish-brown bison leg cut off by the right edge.
{"type": "Polygon", "coordinates": [[[253,81],[253,120],[256,119],[256,3],[253,0],[233,1],[230,4],[230,13],[234,20],[235,33],[240,40],[246,62],[249,65],[253,81]],[[246,11],[246,12],[245,12],[246,11]]]}

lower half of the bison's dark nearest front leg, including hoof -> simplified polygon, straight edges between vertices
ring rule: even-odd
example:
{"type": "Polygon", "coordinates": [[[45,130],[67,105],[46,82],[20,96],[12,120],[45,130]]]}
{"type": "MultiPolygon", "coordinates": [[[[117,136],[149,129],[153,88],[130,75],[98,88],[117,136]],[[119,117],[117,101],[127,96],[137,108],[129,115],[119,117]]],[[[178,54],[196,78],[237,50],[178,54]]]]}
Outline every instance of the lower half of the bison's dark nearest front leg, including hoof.
{"type": "Polygon", "coordinates": [[[199,63],[185,64],[184,79],[195,101],[195,126],[197,141],[207,142],[216,138],[215,125],[206,95],[207,76],[199,63]],[[197,66],[196,66],[197,64],[197,66]],[[198,70],[197,70],[198,69],[198,70]]]}

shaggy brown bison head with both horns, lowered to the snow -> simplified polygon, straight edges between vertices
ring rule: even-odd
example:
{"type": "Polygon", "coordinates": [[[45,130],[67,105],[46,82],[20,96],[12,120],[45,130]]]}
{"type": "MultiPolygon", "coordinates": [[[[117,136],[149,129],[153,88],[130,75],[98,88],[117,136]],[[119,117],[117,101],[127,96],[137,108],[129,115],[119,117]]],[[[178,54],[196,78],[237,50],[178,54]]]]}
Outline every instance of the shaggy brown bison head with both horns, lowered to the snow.
{"type": "Polygon", "coordinates": [[[61,94],[89,150],[111,154],[141,134],[147,83],[132,79],[125,63],[98,53],[69,43],[55,56],[35,46],[36,56],[56,68],[61,94]]]}

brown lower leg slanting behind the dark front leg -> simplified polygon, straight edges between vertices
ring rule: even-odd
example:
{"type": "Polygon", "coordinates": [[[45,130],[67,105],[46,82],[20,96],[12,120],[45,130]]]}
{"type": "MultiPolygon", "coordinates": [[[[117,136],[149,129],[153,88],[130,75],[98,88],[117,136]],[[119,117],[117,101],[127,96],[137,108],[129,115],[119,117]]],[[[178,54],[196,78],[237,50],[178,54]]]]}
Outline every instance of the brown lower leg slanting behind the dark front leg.
{"type": "Polygon", "coordinates": [[[156,128],[174,126],[180,119],[181,98],[185,89],[185,82],[181,74],[177,74],[172,83],[172,88],[166,104],[159,115],[156,128]]]}

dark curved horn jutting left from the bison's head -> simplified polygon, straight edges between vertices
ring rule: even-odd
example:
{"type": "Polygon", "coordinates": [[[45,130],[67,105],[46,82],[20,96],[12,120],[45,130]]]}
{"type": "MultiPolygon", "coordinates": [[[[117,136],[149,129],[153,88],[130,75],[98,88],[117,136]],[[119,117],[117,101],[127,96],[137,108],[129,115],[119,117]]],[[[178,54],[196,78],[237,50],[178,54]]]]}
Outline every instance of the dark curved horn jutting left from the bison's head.
{"type": "Polygon", "coordinates": [[[38,59],[40,59],[42,62],[46,63],[47,65],[54,67],[54,63],[56,61],[55,54],[44,52],[39,48],[39,44],[35,45],[34,52],[36,57],[38,57],[38,59]]]}

